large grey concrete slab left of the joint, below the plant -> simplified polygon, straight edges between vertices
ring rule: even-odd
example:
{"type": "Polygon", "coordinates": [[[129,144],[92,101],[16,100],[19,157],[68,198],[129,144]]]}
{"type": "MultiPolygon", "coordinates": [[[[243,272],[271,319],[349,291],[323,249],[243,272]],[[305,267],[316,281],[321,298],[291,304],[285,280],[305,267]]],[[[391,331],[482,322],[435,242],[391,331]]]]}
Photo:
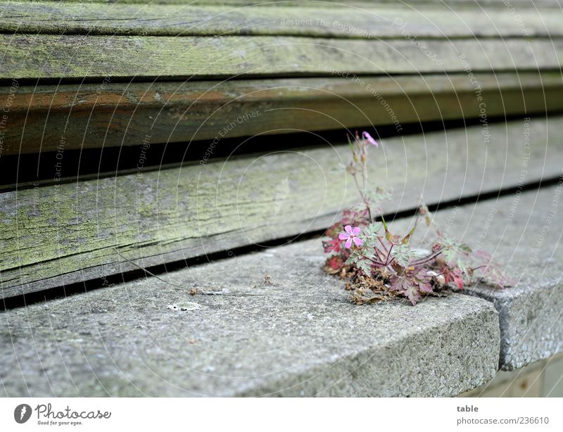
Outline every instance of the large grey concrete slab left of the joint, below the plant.
{"type": "Polygon", "coordinates": [[[0,391],[452,396],[493,378],[491,303],[351,305],[322,260],[307,241],[167,275],[185,289],[149,278],[1,313],[0,391]]]}

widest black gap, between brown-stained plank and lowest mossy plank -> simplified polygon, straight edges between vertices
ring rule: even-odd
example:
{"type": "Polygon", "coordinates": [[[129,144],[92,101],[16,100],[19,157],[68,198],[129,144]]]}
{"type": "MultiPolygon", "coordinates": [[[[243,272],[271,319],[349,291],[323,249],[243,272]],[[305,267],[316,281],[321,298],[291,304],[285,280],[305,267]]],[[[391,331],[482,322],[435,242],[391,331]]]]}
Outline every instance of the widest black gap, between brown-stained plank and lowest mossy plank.
{"type": "MultiPolygon", "coordinates": [[[[563,112],[562,112],[563,113],[563,112]]],[[[550,113],[551,115],[559,112],[550,113]]],[[[488,123],[521,120],[523,115],[497,116],[488,118],[488,123]]],[[[526,114],[529,116],[529,114],[526,114]]],[[[545,114],[537,115],[545,117],[545,114]]],[[[394,125],[378,126],[375,135],[379,139],[395,136],[436,132],[445,129],[465,128],[479,125],[479,118],[459,120],[438,120],[424,123],[407,123],[402,132],[397,132],[394,125]]],[[[373,131],[372,126],[355,127],[356,129],[373,131]]],[[[294,151],[305,148],[327,147],[328,143],[346,142],[346,131],[342,129],[299,132],[288,134],[258,135],[221,139],[213,148],[213,155],[207,162],[224,160],[224,158],[260,154],[271,151],[294,151]],[[288,145],[289,144],[289,145],[288,145]]],[[[86,179],[102,179],[136,172],[150,172],[165,168],[180,167],[184,164],[198,163],[212,140],[192,141],[191,143],[151,144],[144,149],[139,146],[123,146],[108,148],[88,148],[84,150],[65,150],[64,164],[58,176],[57,152],[31,153],[23,155],[4,155],[0,158],[0,193],[13,190],[32,189],[36,186],[49,186],[82,181],[86,179]],[[137,168],[139,157],[143,154],[142,171],[137,168]]]]}

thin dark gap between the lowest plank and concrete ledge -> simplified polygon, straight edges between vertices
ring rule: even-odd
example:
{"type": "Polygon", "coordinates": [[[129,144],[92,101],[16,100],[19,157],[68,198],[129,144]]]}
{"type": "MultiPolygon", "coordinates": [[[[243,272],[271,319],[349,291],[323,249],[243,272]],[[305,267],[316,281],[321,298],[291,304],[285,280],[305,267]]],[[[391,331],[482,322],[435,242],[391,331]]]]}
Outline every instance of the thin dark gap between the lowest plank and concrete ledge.
{"type": "MultiPolygon", "coordinates": [[[[540,189],[542,187],[553,186],[561,181],[561,177],[552,177],[549,179],[543,179],[540,182],[533,182],[529,184],[524,184],[522,186],[514,186],[507,189],[501,189],[500,191],[490,191],[485,193],[479,193],[472,196],[464,196],[462,198],[443,201],[441,203],[436,203],[434,205],[429,205],[429,210],[431,212],[436,212],[438,210],[445,210],[448,208],[453,208],[456,205],[469,205],[478,203],[481,201],[488,201],[493,199],[498,199],[502,196],[507,196],[517,191],[533,191],[534,189],[540,189]]],[[[412,217],[417,212],[417,208],[412,208],[410,210],[403,210],[400,212],[395,212],[394,214],[384,215],[388,222],[393,222],[393,220],[400,219],[403,217],[412,217]]],[[[232,250],[221,251],[210,253],[208,255],[199,256],[195,258],[190,258],[189,260],[179,260],[174,262],[168,262],[162,265],[156,265],[153,267],[146,267],[148,272],[156,275],[167,274],[168,272],[174,272],[179,269],[184,269],[186,267],[191,267],[193,265],[202,265],[209,262],[217,262],[220,260],[227,260],[229,258],[234,258],[236,256],[246,255],[248,253],[260,252],[265,248],[272,248],[276,246],[283,246],[289,241],[292,243],[296,241],[305,241],[309,239],[317,239],[323,236],[325,229],[320,229],[316,231],[310,231],[300,236],[289,236],[281,239],[275,239],[272,241],[267,241],[262,243],[260,246],[249,245],[241,246],[239,248],[234,248],[232,250]]],[[[129,281],[134,281],[140,279],[141,277],[150,277],[144,270],[133,270],[130,272],[125,272],[121,274],[114,274],[112,276],[106,277],[105,281],[100,281],[99,279],[82,281],[76,284],[70,284],[67,286],[59,286],[57,288],[50,288],[45,291],[39,291],[36,293],[29,293],[22,296],[16,296],[11,298],[6,298],[3,300],[4,310],[11,310],[18,307],[25,307],[26,305],[32,305],[34,303],[48,302],[49,300],[55,300],[57,298],[66,298],[68,296],[75,296],[80,293],[88,293],[90,291],[95,291],[100,288],[105,288],[112,284],[122,284],[129,281]]],[[[186,286],[186,293],[189,291],[189,287],[186,286]]],[[[1,311],[1,307],[0,307],[1,311]]]]}

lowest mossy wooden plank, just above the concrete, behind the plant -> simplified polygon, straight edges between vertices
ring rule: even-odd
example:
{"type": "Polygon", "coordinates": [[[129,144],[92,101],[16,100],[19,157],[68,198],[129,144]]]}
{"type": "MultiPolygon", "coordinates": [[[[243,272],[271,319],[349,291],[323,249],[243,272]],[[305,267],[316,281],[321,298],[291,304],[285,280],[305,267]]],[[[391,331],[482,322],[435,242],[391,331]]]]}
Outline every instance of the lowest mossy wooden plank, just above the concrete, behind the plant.
{"type": "MultiPolygon", "coordinates": [[[[563,117],[383,141],[370,182],[389,211],[560,174],[563,117]],[[526,135],[525,135],[526,134],[526,135]],[[524,173],[524,174],[523,174],[524,173]]],[[[374,149],[375,150],[375,149],[374,149]]],[[[150,150],[149,150],[150,151],[150,150]]],[[[347,145],[208,161],[0,194],[4,297],[327,227],[358,200],[347,145]]]]}

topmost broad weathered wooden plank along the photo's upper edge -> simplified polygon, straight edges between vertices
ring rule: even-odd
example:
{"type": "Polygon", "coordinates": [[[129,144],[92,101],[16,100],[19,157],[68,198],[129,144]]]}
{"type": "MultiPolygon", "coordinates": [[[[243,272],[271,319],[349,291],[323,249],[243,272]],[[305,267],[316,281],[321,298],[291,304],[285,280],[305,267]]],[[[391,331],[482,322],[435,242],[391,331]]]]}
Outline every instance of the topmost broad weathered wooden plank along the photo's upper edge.
{"type": "Polygon", "coordinates": [[[0,32],[110,35],[286,35],[353,39],[405,37],[561,37],[563,11],[526,9],[514,18],[507,8],[474,7],[461,11],[405,6],[291,8],[271,4],[193,6],[191,4],[80,4],[13,2],[0,16],[0,32]]]}

